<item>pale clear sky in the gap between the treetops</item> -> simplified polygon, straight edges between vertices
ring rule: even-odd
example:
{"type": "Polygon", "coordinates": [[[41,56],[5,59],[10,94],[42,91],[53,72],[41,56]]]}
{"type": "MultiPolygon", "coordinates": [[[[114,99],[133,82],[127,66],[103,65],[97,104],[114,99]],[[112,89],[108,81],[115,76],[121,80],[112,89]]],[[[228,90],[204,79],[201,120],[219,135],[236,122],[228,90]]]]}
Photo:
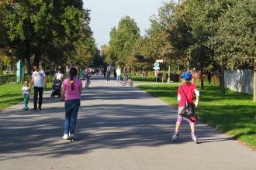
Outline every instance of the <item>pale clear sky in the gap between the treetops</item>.
{"type": "Polygon", "coordinates": [[[91,10],[90,27],[98,49],[109,44],[109,32],[126,15],[140,28],[140,36],[150,28],[150,16],[158,14],[164,0],[83,0],[84,8],[91,10]]]}

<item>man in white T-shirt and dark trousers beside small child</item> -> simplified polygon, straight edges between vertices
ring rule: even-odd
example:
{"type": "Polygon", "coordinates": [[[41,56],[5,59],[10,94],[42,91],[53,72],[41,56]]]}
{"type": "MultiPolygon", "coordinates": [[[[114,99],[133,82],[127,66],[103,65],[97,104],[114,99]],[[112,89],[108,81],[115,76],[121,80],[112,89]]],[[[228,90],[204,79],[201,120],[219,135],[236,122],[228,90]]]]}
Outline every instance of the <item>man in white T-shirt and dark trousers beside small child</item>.
{"type": "Polygon", "coordinates": [[[32,80],[30,82],[30,87],[34,86],[34,96],[33,96],[33,103],[34,108],[33,110],[37,110],[37,96],[39,96],[38,100],[38,109],[42,110],[42,103],[43,103],[43,87],[47,88],[47,77],[43,70],[39,69],[38,65],[33,66],[34,72],[32,73],[32,80]]]}

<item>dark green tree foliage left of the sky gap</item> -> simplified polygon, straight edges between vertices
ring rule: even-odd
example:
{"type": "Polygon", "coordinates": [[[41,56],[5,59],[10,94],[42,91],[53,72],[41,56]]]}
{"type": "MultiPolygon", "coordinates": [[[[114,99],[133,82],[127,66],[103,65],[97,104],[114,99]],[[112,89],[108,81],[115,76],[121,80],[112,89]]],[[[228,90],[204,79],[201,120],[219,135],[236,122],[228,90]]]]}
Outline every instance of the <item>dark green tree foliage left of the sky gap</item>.
{"type": "Polygon", "coordinates": [[[0,5],[0,46],[11,49],[5,50],[9,56],[26,60],[28,73],[31,59],[37,65],[62,65],[71,57],[86,60],[98,53],[89,27],[89,10],[83,9],[82,0],[6,0],[0,5]],[[88,50],[83,51],[85,48],[88,50]]]}

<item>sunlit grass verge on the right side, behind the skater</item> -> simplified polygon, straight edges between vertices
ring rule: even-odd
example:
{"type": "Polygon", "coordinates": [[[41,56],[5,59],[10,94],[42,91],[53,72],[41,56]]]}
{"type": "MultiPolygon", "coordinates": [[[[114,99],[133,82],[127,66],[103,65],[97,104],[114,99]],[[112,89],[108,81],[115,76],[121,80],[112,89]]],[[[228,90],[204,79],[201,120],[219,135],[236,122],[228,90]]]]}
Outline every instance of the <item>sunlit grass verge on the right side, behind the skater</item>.
{"type": "MultiPolygon", "coordinates": [[[[139,88],[173,107],[178,107],[178,85],[165,83],[142,85],[139,88]]],[[[256,114],[252,95],[231,90],[226,90],[226,94],[222,95],[220,87],[206,86],[204,90],[200,90],[199,107],[195,112],[199,121],[256,148],[256,114]]]]}

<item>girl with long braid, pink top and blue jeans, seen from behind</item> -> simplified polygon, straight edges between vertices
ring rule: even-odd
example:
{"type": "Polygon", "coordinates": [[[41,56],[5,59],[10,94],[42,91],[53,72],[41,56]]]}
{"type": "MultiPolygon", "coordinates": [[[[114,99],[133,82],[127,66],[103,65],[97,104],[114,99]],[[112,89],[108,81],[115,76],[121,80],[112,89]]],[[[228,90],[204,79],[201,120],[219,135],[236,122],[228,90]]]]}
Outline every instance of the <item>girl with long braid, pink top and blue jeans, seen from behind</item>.
{"type": "Polygon", "coordinates": [[[74,138],[78,110],[81,104],[82,82],[77,78],[78,70],[71,68],[70,77],[64,80],[61,100],[65,101],[65,121],[63,139],[74,138]]]}

